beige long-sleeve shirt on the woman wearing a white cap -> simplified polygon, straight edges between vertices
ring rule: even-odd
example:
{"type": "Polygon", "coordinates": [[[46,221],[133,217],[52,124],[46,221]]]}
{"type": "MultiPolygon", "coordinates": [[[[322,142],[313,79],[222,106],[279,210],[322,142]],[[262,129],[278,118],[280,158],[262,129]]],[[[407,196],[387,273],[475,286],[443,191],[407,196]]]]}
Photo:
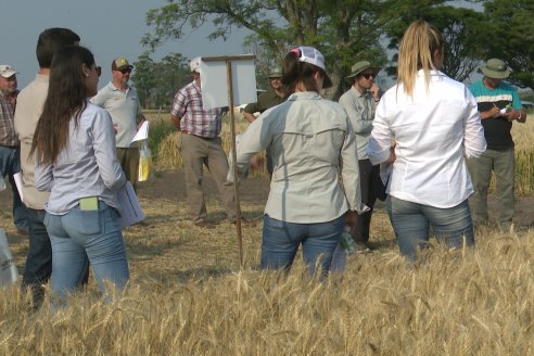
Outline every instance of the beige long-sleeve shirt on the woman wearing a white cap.
{"type": "Polygon", "coordinates": [[[241,137],[238,170],[246,170],[250,157],[267,148],[274,164],[265,206],[270,217],[314,224],[367,208],[361,204],[355,135],[338,103],[316,92],[296,92],[264,112],[241,137]]]}

